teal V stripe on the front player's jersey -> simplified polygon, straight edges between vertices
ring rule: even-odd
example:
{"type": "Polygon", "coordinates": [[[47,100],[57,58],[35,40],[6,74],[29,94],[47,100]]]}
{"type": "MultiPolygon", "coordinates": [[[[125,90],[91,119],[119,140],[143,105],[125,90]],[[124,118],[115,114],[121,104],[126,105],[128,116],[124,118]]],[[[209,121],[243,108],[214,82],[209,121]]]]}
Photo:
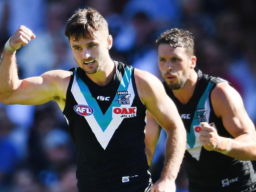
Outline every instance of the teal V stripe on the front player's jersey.
{"type": "MultiPolygon", "coordinates": [[[[130,83],[130,77],[131,77],[131,69],[126,67],[125,71],[126,72],[124,73],[124,76],[119,85],[118,91],[119,90],[124,91],[124,90],[128,89],[128,85],[130,83]]],[[[109,106],[108,110],[106,111],[105,114],[103,114],[100,107],[98,106],[97,101],[95,100],[95,98],[93,98],[91,96],[91,92],[89,91],[89,88],[87,87],[87,85],[78,76],[76,70],[74,70],[74,73],[76,74],[76,81],[78,83],[78,86],[79,86],[86,102],[88,103],[88,105],[90,107],[93,107],[93,109],[94,109],[93,116],[95,117],[98,125],[104,132],[112,120],[112,107],[120,107],[121,106],[121,105],[119,105],[118,102],[115,102],[115,100],[118,99],[118,95],[117,94],[115,95],[115,98],[114,98],[113,102],[111,103],[111,105],[109,106]]],[[[78,104],[80,104],[80,103],[78,103],[78,104]]]]}

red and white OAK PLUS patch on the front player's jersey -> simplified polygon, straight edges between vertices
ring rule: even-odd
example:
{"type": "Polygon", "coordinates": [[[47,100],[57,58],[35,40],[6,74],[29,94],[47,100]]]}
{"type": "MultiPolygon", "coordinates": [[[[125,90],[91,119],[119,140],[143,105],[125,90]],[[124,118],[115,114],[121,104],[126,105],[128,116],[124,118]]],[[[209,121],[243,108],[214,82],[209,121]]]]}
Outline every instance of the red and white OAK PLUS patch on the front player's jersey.
{"type": "Polygon", "coordinates": [[[131,118],[136,116],[137,107],[112,107],[112,118],[131,118]]]}

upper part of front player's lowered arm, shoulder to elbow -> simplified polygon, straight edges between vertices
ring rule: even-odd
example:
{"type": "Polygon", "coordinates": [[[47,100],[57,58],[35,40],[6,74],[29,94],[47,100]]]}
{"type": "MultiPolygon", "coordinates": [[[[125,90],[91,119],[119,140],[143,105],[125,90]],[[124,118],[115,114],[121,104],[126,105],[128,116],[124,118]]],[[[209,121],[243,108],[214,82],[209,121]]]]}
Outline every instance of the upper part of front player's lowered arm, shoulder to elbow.
{"type": "Polygon", "coordinates": [[[184,127],[173,101],[166,94],[161,81],[152,74],[135,71],[135,81],[141,101],[167,135],[175,128],[184,127]]]}

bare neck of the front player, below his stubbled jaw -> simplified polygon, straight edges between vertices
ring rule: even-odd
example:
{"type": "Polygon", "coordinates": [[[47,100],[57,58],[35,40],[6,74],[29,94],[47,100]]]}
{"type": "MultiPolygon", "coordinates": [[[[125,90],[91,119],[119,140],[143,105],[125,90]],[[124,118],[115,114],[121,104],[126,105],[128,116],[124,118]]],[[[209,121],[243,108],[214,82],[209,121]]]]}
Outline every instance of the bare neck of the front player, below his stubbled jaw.
{"type": "Polygon", "coordinates": [[[115,74],[115,63],[109,58],[102,68],[95,74],[87,74],[87,76],[97,85],[107,85],[115,74]]]}

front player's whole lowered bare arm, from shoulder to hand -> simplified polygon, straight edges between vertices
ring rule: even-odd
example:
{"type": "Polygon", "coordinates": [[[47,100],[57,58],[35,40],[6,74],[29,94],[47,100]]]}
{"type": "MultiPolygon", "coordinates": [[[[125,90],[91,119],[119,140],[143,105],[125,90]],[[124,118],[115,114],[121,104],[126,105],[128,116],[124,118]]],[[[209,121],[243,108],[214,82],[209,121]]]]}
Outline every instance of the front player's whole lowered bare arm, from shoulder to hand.
{"type": "Polygon", "coordinates": [[[142,102],[167,133],[164,167],[151,191],[174,192],[174,181],[186,149],[185,127],[176,106],[158,78],[145,71],[135,70],[135,81],[142,102]]]}

